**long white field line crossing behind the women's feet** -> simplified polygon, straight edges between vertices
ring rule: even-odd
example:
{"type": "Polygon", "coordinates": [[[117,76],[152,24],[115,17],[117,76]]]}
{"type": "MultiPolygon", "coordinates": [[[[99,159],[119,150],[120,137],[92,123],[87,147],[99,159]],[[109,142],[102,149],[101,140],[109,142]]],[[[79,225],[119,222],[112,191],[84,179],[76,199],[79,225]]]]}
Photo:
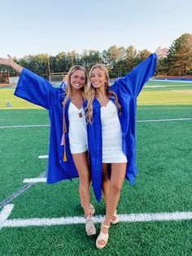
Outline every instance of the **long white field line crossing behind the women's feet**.
{"type": "MultiPolygon", "coordinates": [[[[119,214],[121,222],[178,221],[192,219],[192,212],[156,213],[156,214],[119,214]]],[[[101,223],[104,216],[93,217],[94,223],[101,223]]],[[[83,217],[65,218],[15,218],[6,220],[2,227],[55,226],[85,223],[83,217]]]]}

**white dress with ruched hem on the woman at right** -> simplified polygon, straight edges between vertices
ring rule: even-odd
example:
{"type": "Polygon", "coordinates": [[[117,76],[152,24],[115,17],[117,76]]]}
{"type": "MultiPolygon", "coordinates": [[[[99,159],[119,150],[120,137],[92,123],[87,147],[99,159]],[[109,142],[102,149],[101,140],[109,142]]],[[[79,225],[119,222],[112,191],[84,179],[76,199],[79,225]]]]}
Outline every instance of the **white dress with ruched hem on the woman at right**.
{"type": "Polygon", "coordinates": [[[110,100],[101,107],[103,163],[127,162],[122,151],[122,131],[116,105],[110,100]]]}

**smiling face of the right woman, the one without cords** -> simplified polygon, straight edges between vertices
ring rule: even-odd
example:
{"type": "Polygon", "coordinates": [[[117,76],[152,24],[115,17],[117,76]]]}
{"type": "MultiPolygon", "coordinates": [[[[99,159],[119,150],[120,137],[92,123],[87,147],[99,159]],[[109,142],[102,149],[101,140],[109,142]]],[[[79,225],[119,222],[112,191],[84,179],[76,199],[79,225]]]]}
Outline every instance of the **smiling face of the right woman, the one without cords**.
{"type": "Polygon", "coordinates": [[[104,71],[100,68],[94,68],[90,74],[90,82],[95,89],[105,86],[107,77],[104,71]]]}

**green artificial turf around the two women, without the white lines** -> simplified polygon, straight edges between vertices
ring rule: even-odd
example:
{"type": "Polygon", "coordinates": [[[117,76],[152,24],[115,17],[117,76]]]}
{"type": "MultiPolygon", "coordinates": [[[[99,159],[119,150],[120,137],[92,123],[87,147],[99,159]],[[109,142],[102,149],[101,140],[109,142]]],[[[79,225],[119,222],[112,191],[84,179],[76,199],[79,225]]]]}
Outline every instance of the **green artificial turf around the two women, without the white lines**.
{"type": "MultiPolygon", "coordinates": [[[[142,91],[139,97],[147,92],[142,91]]],[[[164,99],[162,91],[158,92],[151,95],[149,91],[145,100],[154,100],[158,95],[158,100],[164,99]]],[[[177,94],[171,95],[172,90],[171,99],[177,99],[177,94]]],[[[175,102],[178,105],[138,104],[137,120],[192,117],[192,105],[185,104],[185,96],[180,96],[182,101],[175,102]]],[[[47,112],[0,112],[0,126],[30,124],[49,124],[47,112]]],[[[191,211],[191,130],[192,121],[137,123],[139,171],[134,187],[124,182],[120,214],[191,211]]],[[[47,154],[49,127],[1,129],[0,139],[2,201],[23,186],[23,179],[37,177],[46,170],[47,160],[37,157],[47,154]]],[[[15,206],[9,219],[82,216],[77,187],[78,179],[53,185],[37,183],[12,201],[15,206]]],[[[96,202],[92,190],[91,196],[96,214],[104,214],[104,202],[96,202]]],[[[99,231],[100,224],[96,227],[99,231]]],[[[191,221],[120,223],[111,227],[109,245],[99,251],[95,248],[96,236],[86,236],[83,224],[2,228],[0,254],[191,255],[191,232],[191,221]]]]}

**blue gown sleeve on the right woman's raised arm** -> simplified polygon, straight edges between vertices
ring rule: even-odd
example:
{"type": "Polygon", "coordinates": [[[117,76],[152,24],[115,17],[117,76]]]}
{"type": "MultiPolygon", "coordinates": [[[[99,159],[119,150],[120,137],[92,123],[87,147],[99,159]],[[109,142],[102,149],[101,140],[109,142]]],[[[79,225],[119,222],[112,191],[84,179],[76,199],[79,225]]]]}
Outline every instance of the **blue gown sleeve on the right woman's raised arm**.
{"type": "Polygon", "coordinates": [[[126,94],[137,98],[142,86],[155,74],[156,63],[157,55],[155,53],[151,54],[125,77],[119,79],[116,85],[121,86],[126,94]]]}

